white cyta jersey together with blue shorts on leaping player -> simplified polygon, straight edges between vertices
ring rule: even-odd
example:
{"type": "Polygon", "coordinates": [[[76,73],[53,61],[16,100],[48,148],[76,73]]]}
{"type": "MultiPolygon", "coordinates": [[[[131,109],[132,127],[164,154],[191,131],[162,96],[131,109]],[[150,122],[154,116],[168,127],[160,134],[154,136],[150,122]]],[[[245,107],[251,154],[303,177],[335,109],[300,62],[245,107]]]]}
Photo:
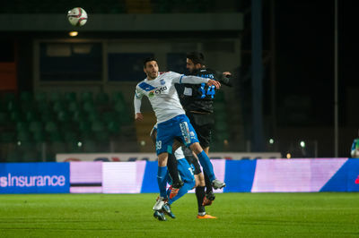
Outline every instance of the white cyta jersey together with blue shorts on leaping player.
{"type": "Polygon", "coordinates": [[[171,153],[174,138],[180,138],[187,146],[198,142],[197,134],[180,105],[174,84],[206,82],[208,79],[205,78],[164,72],[154,80],[145,79],[137,84],[134,98],[135,114],[141,112],[141,99],[146,96],[157,117],[157,155],[163,152],[171,153]]]}

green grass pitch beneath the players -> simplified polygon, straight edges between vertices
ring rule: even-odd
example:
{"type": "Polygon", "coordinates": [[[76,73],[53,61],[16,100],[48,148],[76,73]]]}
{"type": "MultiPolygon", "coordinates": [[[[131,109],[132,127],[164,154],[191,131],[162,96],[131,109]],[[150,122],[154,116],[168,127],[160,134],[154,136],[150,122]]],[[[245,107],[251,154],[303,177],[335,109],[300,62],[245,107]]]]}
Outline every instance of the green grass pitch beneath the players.
{"type": "Polygon", "coordinates": [[[359,237],[359,193],[224,193],[197,219],[194,194],[153,218],[156,194],[0,195],[0,237],[359,237]]]}

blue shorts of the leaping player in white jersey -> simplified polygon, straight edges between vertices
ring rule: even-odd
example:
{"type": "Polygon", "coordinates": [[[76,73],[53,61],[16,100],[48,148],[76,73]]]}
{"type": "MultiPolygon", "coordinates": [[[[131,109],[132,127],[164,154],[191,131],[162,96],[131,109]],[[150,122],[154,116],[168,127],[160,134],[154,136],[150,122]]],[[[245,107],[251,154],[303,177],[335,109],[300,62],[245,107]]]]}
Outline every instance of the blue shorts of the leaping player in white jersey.
{"type": "Polygon", "coordinates": [[[172,119],[157,124],[157,155],[163,152],[172,153],[172,144],[174,139],[179,139],[186,146],[198,142],[197,133],[187,115],[177,115],[172,119]]]}

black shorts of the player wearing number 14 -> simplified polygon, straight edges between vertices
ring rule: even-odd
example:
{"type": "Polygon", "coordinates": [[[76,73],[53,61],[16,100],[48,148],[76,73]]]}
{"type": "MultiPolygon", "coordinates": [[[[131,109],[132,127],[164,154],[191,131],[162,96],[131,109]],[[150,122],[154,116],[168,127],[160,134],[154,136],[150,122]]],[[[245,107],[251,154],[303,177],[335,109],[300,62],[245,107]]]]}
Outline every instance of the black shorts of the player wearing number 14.
{"type": "Polygon", "coordinates": [[[209,147],[212,140],[212,131],[215,119],[212,114],[196,114],[187,112],[186,115],[197,132],[197,139],[202,148],[209,147]]]}

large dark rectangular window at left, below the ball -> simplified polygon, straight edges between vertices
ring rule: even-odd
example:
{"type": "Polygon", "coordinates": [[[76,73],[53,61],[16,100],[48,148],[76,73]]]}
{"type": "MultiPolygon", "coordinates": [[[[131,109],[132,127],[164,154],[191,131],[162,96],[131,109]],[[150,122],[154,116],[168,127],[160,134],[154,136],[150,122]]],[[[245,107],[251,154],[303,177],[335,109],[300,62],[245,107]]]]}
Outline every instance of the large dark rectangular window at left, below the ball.
{"type": "Polygon", "coordinates": [[[101,43],[40,43],[40,81],[101,81],[101,43]]]}

